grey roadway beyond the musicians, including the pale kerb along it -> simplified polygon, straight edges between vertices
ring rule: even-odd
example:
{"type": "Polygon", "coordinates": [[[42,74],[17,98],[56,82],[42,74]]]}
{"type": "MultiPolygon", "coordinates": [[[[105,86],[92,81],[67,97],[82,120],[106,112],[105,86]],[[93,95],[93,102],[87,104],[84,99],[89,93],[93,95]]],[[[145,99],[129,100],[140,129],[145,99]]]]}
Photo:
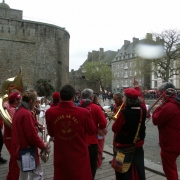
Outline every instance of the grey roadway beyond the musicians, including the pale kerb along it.
{"type": "MultiPolygon", "coordinates": [[[[152,105],[155,100],[147,100],[150,105],[152,105]]],[[[113,102],[113,101],[112,101],[113,102]]],[[[103,106],[109,105],[109,100],[103,102],[101,100],[100,104],[103,106]]],[[[113,122],[110,123],[108,133],[105,139],[104,150],[112,153],[112,142],[113,142],[113,132],[111,130],[113,122]]],[[[153,125],[151,119],[146,121],[146,137],[144,143],[144,156],[145,156],[145,167],[153,172],[164,174],[162,170],[162,163],[160,158],[160,147],[158,142],[158,129],[153,125]]],[[[177,159],[177,168],[180,178],[180,157],[177,159]]]]}

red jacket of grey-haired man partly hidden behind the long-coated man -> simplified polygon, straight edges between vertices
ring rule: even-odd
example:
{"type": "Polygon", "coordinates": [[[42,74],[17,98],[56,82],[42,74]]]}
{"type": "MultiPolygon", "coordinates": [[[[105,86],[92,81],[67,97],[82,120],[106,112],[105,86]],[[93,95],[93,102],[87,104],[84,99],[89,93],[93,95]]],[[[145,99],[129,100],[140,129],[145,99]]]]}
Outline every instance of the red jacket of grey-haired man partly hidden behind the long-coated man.
{"type": "MultiPolygon", "coordinates": [[[[80,106],[81,106],[81,104],[83,102],[84,102],[84,100],[82,100],[80,102],[80,106]]],[[[106,120],[106,117],[105,117],[103,111],[101,110],[101,108],[98,105],[96,105],[96,104],[94,104],[92,102],[87,104],[85,108],[87,110],[89,110],[89,112],[90,112],[90,114],[92,116],[92,119],[94,121],[94,124],[95,124],[95,126],[97,128],[97,131],[98,131],[98,129],[104,130],[106,128],[107,120],[106,120]]],[[[87,134],[86,141],[87,141],[87,144],[98,144],[97,132],[94,133],[94,135],[91,135],[91,136],[89,136],[87,134]]]]}

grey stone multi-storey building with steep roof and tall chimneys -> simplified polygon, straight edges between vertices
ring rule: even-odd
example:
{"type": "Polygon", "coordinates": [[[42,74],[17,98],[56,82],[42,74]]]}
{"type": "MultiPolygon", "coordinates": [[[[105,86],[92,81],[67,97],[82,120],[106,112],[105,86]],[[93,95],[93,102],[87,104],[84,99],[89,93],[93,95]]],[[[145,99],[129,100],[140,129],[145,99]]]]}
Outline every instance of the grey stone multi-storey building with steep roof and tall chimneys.
{"type": "MultiPolygon", "coordinates": [[[[139,40],[133,37],[132,42],[124,40],[124,45],[118,50],[116,57],[112,60],[112,71],[114,79],[112,81],[112,92],[119,92],[125,88],[133,87],[133,78],[139,82],[143,89],[151,89],[152,73],[142,73],[141,69],[146,66],[145,61],[140,60],[138,66],[137,61],[137,45],[145,42],[159,43],[152,39],[152,34],[147,33],[146,38],[139,40]]],[[[148,69],[150,72],[150,67],[148,69]]]]}

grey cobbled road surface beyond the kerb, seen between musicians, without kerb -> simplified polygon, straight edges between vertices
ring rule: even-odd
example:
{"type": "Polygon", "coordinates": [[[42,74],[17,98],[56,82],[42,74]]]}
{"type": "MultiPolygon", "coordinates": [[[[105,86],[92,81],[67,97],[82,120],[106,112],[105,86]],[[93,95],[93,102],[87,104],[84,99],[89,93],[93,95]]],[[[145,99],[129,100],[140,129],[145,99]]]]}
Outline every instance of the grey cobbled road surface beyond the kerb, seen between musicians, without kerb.
{"type": "MultiPolygon", "coordinates": [[[[154,101],[148,101],[152,104],[154,101]]],[[[109,100],[102,102],[101,105],[109,105],[109,100]]],[[[106,135],[105,144],[109,147],[112,147],[113,141],[113,132],[111,130],[113,122],[110,123],[108,127],[108,133],[106,135]]],[[[156,164],[161,165],[161,158],[160,158],[160,147],[158,142],[158,129],[156,126],[152,124],[151,119],[147,122],[146,121],[146,138],[144,144],[144,155],[145,159],[148,161],[152,161],[156,164]]],[[[178,171],[180,171],[180,157],[177,159],[177,167],[178,171]]]]}

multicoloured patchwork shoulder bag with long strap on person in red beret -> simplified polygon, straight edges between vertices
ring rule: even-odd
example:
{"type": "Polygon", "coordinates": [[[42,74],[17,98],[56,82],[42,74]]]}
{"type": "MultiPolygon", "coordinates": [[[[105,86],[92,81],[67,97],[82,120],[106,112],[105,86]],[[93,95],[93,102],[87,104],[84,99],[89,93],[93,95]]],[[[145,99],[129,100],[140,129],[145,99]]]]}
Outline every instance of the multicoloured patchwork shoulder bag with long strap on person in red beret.
{"type": "Polygon", "coordinates": [[[119,147],[119,148],[114,147],[114,156],[112,159],[111,166],[114,168],[115,171],[119,173],[126,173],[131,167],[131,163],[135,151],[135,145],[138,139],[139,129],[141,127],[141,122],[142,122],[142,109],[140,109],[140,121],[138,124],[137,132],[135,134],[133,143],[124,147],[119,147]]]}

